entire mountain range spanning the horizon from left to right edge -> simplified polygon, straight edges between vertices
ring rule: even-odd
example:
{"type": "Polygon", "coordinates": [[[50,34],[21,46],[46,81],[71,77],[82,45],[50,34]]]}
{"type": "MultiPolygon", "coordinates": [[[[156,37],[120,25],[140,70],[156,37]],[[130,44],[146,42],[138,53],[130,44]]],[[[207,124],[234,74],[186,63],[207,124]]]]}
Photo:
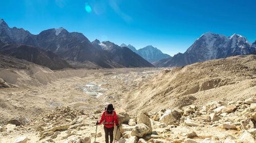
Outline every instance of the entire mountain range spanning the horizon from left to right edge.
{"type": "Polygon", "coordinates": [[[23,28],[12,27],[0,20],[0,54],[27,60],[50,69],[63,68],[123,68],[176,67],[234,55],[256,54],[256,41],[249,43],[241,35],[207,32],[184,53],[169,56],[161,50],[146,46],[116,45],[110,41],[90,42],[86,36],[51,28],[33,35],[23,28]],[[152,64],[151,64],[152,63],[152,64]]]}

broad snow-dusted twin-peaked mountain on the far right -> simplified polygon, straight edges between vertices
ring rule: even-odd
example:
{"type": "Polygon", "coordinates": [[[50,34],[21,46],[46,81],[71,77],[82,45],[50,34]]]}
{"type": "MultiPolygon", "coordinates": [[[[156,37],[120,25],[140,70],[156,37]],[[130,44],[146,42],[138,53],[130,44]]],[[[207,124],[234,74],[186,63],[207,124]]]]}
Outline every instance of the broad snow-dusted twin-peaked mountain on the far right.
{"type": "Polygon", "coordinates": [[[196,62],[227,58],[235,55],[251,54],[255,47],[245,37],[233,34],[230,37],[207,32],[197,39],[186,52],[178,53],[173,58],[153,63],[157,67],[185,66],[196,62]]]}

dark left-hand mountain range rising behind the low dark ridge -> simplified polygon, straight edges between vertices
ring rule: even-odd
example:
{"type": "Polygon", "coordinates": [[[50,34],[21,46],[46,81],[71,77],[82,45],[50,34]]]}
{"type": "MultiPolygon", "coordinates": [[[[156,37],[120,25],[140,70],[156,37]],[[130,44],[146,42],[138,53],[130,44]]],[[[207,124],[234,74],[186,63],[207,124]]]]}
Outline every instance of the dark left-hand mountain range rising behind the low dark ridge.
{"type": "MultiPolygon", "coordinates": [[[[33,35],[30,32],[25,31],[23,28],[10,28],[8,24],[1,19],[0,40],[6,44],[23,44],[38,47],[45,51],[51,51],[76,68],[154,67],[148,62],[145,63],[143,58],[137,56],[137,54],[132,52],[130,49],[128,49],[129,52],[126,52],[126,56],[136,56],[137,61],[133,61],[128,58],[119,63],[115,62],[117,60],[113,60],[110,52],[95,47],[83,34],[77,32],[70,33],[62,27],[51,28],[49,30],[40,32],[38,35],[33,35]],[[137,63],[132,64],[134,62],[137,63]],[[90,66],[88,66],[87,63],[90,63],[90,66]]],[[[127,49],[122,47],[118,48],[120,48],[119,52],[123,52],[122,50],[127,51],[127,49]]],[[[118,56],[119,55],[116,55],[115,59],[123,59],[123,57],[118,56]]]]}

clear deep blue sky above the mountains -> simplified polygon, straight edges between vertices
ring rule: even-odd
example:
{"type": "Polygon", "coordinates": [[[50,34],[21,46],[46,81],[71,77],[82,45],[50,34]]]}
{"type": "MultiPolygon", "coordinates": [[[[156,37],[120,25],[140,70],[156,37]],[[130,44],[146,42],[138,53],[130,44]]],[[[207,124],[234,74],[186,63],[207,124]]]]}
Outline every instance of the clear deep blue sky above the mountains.
{"type": "Polygon", "coordinates": [[[32,34],[64,27],[91,41],[109,40],[137,49],[153,45],[170,55],[184,52],[205,32],[256,40],[253,0],[0,1],[0,18],[32,34]]]}

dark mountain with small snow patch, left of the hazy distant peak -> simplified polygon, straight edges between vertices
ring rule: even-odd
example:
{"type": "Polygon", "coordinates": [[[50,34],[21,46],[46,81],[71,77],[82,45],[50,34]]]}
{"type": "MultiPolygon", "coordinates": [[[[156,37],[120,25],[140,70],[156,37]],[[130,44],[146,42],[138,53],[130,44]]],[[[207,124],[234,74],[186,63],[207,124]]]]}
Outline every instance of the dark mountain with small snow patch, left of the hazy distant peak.
{"type": "Polygon", "coordinates": [[[147,62],[140,55],[127,47],[120,47],[110,41],[103,41],[98,45],[108,52],[111,60],[124,67],[154,67],[151,63],[147,62]]]}

